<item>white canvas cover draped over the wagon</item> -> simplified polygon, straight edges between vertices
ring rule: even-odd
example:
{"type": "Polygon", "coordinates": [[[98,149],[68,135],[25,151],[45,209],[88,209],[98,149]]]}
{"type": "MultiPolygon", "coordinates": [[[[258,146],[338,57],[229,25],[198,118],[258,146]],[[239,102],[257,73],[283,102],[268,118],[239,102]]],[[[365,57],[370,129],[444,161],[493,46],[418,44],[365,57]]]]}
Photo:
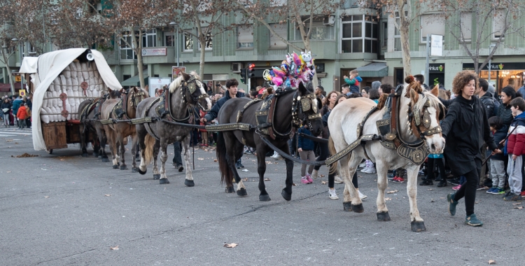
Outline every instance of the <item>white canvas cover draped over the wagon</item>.
{"type": "MultiPolygon", "coordinates": [[[[33,109],[31,111],[33,119],[32,123],[33,125],[35,125],[34,127],[31,127],[33,132],[33,148],[35,151],[45,151],[46,149],[45,142],[43,140],[42,127],[40,126],[42,123],[41,111],[43,110],[42,107],[44,98],[50,98],[50,95],[55,93],[53,91],[55,91],[54,87],[57,87],[57,85],[55,84],[56,82],[54,83],[54,81],[61,80],[59,76],[65,78],[65,76],[60,75],[62,71],[64,71],[66,67],[68,67],[71,64],[71,62],[73,62],[74,59],[82,55],[83,52],[85,52],[86,50],[90,49],[71,48],[66,50],[57,50],[53,52],[47,52],[38,57],[36,73],[34,75],[31,75],[31,81],[36,87],[32,99],[33,109]],[[55,84],[55,86],[50,87],[52,83],[55,84]],[[50,91],[48,91],[48,89],[50,89],[50,91]],[[45,97],[46,95],[47,97],[45,97]]],[[[102,55],[102,53],[97,50],[90,50],[90,52],[92,52],[94,56],[94,63],[96,64],[98,71],[97,74],[102,78],[104,85],[106,87],[109,87],[111,90],[120,90],[122,86],[118,82],[116,76],[113,74],[113,71],[111,71],[111,68],[106,62],[104,55],[102,55]]],[[[61,81],[61,83],[62,82],[63,81],[61,81]]],[[[64,84],[75,85],[72,81],[70,83],[67,78],[65,79],[64,84]]],[[[73,95],[71,96],[74,96],[78,93],[79,92],[73,92],[73,95]]],[[[51,106],[49,102],[47,102],[46,104],[50,106],[51,109],[57,109],[57,105],[55,105],[56,107],[51,106]]],[[[59,110],[55,110],[53,112],[56,113],[58,111],[59,110]]],[[[55,117],[55,120],[58,119],[57,116],[50,117],[55,117]]],[[[71,116],[68,116],[68,119],[73,118],[71,118],[71,116]]]]}

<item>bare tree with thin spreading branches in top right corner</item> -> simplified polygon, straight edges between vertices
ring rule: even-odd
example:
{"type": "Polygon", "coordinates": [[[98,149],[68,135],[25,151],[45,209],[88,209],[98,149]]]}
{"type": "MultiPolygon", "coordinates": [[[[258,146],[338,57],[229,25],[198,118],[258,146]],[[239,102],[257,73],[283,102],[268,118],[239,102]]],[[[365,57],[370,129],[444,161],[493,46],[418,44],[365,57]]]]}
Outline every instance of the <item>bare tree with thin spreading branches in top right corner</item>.
{"type": "Polygon", "coordinates": [[[505,36],[524,36],[525,25],[517,22],[518,16],[524,14],[522,1],[440,0],[433,3],[436,8],[445,10],[441,15],[447,19],[449,32],[472,58],[476,73],[489,63],[500,45],[505,45],[505,36]],[[494,44],[492,48],[491,44],[494,44]],[[486,48],[489,48],[489,52],[485,57],[486,53],[482,50],[486,48]]]}

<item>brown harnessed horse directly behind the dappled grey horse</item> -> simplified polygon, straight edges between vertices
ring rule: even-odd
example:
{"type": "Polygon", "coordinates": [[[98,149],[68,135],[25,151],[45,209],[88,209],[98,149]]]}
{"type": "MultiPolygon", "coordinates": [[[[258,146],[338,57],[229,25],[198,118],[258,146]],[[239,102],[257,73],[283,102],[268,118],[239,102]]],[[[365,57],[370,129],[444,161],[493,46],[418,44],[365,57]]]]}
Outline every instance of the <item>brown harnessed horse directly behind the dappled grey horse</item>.
{"type": "Polygon", "coordinates": [[[135,125],[131,124],[131,120],[135,118],[137,113],[137,105],[148,98],[148,91],[140,87],[132,87],[123,92],[123,97],[120,99],[108,99],[102,104],[100,117],[101,123],[104,125],[104,131],[109,143],[109,149],[113,158],[113,169],[120,170],[127,169],[124,153],[126,148],[124,146],[124,138],[132,137],[132,172],[138,172],[136,163],[137,151],[137,132],[135,125]],[[118,147],[120,146],[120,152],[118,147]],[[121,164],[118,162],[120,158],[121,164]]]}

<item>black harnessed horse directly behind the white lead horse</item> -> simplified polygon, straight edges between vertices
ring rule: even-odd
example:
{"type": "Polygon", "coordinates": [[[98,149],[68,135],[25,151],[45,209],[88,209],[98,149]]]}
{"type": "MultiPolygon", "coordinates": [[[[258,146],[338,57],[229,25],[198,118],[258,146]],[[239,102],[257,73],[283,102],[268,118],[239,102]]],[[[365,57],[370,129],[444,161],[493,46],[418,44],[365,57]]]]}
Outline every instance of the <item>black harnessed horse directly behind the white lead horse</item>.
{"type": "MultiPolygon", "coordinates": [[[[232,179],[235,177],[237,195],[239,197],[248,195],[246,187],[235,168],[235,162],[243,155],[246,145],[257,150],[259,200],[271,200],[265,188],[264,176],[266,172],[265,154],[272,148],[262,138],[264,137],[272,146],[289,155],[288,139],[290,139],[293,128],[300,124],[300,120],[303,120],[305,125],[309,125],[314,136],[321,134],[323,123],[321,114],[318,113],[317,101],[315,95],[300,83],[297,89],[279,88],[275,94],[266,100],[251,101],[248,98],[234,98],[225,102],[218,113],[219,125],[228,123],[252,125],[249,131],[218,132],[216,155],[221,172],[221,183],[226,183],[225,192],[235,192],[232,184],[232,179]],[[277,114],[277,116],[272,116],[272,113],[277,114]]],[[[293,161],[284,158],[286,162],[286,187],[281,191],[281,196],[288,201],[292,197],[293,161]]]]}

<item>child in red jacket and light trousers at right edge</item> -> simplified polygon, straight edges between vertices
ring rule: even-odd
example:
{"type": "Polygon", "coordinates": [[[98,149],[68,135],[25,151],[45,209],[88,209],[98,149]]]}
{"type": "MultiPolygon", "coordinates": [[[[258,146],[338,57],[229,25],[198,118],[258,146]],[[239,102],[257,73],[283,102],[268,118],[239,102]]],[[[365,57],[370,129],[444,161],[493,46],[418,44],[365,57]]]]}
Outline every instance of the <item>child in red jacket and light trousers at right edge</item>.
{"type": "Polygon", "coordinates": [[[523,98],[515,98],[510,102],[510,110],[514,120],[510,123],[509,132],[514,130],[507,139],[505,151],[509,155],[509,162],[507,165],[507,174],[509,176],[510,191],[505,193],[503,200],[518,201],[521,200],[521,169],[522,160],[521,155],[525,154],[525,100],[523,98]]]}

